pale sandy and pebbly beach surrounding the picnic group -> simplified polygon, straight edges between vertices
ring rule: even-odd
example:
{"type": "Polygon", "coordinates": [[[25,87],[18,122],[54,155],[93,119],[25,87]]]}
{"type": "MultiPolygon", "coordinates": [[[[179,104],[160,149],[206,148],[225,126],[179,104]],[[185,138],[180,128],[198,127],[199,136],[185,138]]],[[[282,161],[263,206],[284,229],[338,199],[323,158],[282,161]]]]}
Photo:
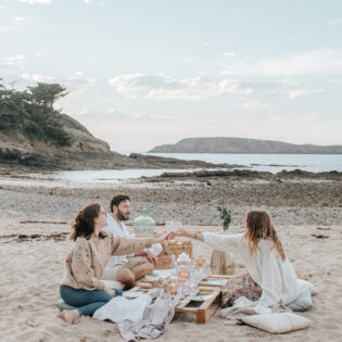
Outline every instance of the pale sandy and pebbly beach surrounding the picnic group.
{"type": "MultiPolygon", "coordinates": [[[[148,207],[159,230],[166,220],[176,218],[189,229],[220,231],[216,206],[221,199],[232,212],[228,233],[239,232],[249,210],[264,208],[271,214],[299,277],[319,290],[313,297],[314,308],[301,314],[313,320],[305,330],[271,335],[248,326],[225,326],[218,312],[201,326],[192,315],[178,314],[159,341],[341,341],[341,181],[246,179],[211,180],[211,185],[132,181],[113,186],[5,176],[0,179],[1,341],[122,340],[116,325],[111,322],[83,317],[67,326],[54,306],[60,299],[64,261],[73,243],[68,232],[74,215],[92,201],[106,208],[116,192],[131,197],[132,219],[141,207],[148,207]]],[[[195,256],[207,256],[208,267],[211,249],[194,242],[193,252],[195,256]]],[[[242,271],[244,266],[237,257],[236,273],[242,271]]]]}

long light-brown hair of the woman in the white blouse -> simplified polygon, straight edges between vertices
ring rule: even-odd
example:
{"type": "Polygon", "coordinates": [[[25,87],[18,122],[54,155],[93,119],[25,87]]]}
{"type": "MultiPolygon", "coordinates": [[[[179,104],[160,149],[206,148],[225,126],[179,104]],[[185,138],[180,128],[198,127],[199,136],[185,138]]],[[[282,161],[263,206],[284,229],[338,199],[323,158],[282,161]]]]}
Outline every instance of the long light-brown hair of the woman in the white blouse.
{"type": "Polygon", "coordinates": [[[244,241],[249,246],[250,256],[253,257],[257,250],[257,244],[261,240],[268,240],[273,243],[273,249],[276,249],[279,256],[284,261],[286,254],[282,249],[282,244],[278,239],[275,227],[270,220],[269,215],[263,211],[251,211],[246,215],[245,219],[246,232],[244,235],[244,241]]]}

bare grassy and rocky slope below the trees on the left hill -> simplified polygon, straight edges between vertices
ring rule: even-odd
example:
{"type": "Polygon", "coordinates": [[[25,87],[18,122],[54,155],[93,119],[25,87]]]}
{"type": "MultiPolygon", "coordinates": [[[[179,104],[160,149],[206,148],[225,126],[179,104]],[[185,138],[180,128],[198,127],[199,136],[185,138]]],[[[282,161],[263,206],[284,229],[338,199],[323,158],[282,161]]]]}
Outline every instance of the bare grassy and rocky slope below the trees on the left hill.
{"type": "Polygon", "coordinates": [[[109,166],[113,157],[119,155],[111,152],[109,143],[94,138],[71,116],[61,114],[59,118],[64,131],[71,137],[68,145],[28,138],[20,130],[1,130],[0,163],[48,169],[85,168],[88,165],[98,168],[109,166]]]}

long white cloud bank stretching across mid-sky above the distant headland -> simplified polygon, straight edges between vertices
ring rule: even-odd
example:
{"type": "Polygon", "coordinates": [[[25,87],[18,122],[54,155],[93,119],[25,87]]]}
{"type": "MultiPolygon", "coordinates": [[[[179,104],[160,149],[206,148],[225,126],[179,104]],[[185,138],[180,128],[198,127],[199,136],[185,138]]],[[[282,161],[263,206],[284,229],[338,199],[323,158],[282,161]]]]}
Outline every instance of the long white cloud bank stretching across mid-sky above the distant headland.
{"type": "Polygon", "coordinates": [[[157,100],[189,100],[201,101],[207,99],[242,99],[242,103],[231,102],[230,105],[243,110],[266,109],[256,99],[248,99],[252,94],[261,97],[281,97],[295,100],[311,93],[321,93],[322,88],[303,87],[293,78],[279,81],[242,81],[211,74],[201,74],[194,77],[176,79],[164,74],[125,74],[109,79],[107,84],[121,96],[130,99],[157,100]]]}

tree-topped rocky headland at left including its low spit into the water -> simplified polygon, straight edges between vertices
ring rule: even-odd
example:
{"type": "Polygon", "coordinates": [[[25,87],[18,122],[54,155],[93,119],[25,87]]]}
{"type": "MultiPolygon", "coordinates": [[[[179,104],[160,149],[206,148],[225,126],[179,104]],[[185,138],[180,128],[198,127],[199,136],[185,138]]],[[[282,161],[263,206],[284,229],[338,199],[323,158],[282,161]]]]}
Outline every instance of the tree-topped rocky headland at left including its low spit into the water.
{"type": "Polygon", "coordinates": [[[79,122],[54,110],[54,102],[67,94],[65,90],[58,84],[38,84],[25,91],[16,91],[0,84],[2,172],[230,167],[202,161],[137,153],[127,156],[113,152],[109,143],[97,139],[79,122]]]}

